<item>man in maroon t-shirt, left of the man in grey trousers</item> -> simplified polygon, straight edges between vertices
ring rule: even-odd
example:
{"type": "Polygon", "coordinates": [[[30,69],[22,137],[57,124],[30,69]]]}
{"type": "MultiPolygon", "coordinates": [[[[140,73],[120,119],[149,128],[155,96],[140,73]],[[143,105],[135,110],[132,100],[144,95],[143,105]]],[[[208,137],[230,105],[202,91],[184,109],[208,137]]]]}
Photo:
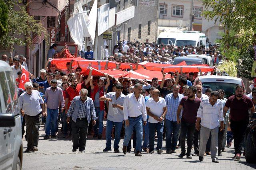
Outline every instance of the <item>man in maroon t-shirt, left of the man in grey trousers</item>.
{"type": "Polygon", "coordinates": [[[187,155],[188,159],[192,159],[190,156],[192,145],[193,145],[193,135],[196,129],[196,116],[197,110],[200,106],[200,98],[195,97],[196,88],[191,86],[188,88],[188,96],[182,98],[180,105],[177,110],[177,123],[180,124],[180,148],[181,154],[179,158],[187,155]],[[183,108],[182,118],[180,120],[180,111],[183,108]],[[187,153],[185,149],[185,139],[187,136],[187,153]]]}

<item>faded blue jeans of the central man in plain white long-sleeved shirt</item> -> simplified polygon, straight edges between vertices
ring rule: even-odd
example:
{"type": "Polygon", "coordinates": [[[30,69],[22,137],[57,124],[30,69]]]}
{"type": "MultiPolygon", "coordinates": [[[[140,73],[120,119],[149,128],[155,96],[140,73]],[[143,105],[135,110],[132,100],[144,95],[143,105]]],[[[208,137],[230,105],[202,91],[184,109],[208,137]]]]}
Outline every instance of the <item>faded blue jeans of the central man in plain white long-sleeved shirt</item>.
{"type": "Polygon", "coordinates": [[[131,137],[132,137],[132,131],[133,129],[136,130],[136,147],[135,151],[140,151],[142,146],[142,115],[140,115],[137,118],[131,118],[128,117],[129,120],[129,126],[125,126],[125,136],[124,136],[124,146],[127,146],[131,137]]]}

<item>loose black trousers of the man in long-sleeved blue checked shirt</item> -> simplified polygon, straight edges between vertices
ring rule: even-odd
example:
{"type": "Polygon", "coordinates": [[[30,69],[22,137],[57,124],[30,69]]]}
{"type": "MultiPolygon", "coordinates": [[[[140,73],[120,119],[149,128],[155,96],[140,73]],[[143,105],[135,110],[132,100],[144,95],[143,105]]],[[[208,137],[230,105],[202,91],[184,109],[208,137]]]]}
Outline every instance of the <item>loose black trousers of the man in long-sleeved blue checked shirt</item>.
{"type": "Polygon", "coordinates": [[[86,146],[87,132],[88,132],[87,118],[82,120],[76,119],[76,122],[72,120],[72,142],[73,148],[83,151],[86,146]]]}

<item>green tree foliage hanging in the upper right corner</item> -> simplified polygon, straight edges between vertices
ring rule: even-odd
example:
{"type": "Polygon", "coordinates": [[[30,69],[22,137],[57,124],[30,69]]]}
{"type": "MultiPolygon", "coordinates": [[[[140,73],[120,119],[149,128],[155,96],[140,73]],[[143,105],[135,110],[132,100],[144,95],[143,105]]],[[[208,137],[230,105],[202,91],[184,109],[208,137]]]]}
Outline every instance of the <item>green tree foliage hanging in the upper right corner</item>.
{"type": "Polygon", "coordinates": [[[255,0],[202,0],[203,15],[228,29],[222,34],[221,49],[225,57],[237,63],[238,76],[251,78],[256,43],[255,0]]]}

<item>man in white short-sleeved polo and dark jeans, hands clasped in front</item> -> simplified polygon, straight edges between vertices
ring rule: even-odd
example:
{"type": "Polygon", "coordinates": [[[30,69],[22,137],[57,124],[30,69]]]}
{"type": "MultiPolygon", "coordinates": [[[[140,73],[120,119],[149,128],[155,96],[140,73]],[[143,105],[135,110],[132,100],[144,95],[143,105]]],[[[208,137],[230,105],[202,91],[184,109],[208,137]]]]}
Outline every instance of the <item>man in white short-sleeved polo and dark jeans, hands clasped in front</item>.
{"type": "Polygon", "coordinates": [[[152,98],[146,102],[149,128],[149,153],[154,153],[155,132],[157,131],[157,154],[161,154],[163,144],[164,116],[166,114],[166,102],[164,98],[159,97],[160,91],[155,89],[152,91],[152,98]]]}

